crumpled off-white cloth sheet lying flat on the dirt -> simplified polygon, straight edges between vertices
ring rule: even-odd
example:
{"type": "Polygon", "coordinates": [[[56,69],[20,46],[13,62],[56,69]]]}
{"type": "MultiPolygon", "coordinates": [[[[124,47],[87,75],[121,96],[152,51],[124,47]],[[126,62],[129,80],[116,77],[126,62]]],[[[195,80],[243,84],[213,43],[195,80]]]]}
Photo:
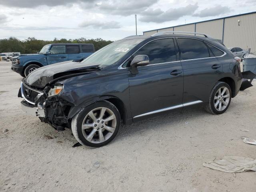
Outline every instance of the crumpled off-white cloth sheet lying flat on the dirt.
{"type": "Polygon", "coordinates": [[[238,156],[224,156],[220,160],[206,162],[203,166],[227,173],[256,171],[256,159],[238,156]]]}

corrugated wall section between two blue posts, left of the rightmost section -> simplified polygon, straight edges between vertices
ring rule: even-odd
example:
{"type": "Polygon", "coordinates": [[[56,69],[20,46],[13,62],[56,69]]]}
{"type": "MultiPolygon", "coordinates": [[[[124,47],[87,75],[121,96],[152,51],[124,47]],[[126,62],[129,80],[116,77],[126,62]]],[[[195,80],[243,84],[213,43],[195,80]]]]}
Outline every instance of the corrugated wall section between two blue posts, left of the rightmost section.
{"type": "Polygon", "coordinates": [[[196,24],[196,32],[208,34],[222,40],[223,19],[196,24]]]}

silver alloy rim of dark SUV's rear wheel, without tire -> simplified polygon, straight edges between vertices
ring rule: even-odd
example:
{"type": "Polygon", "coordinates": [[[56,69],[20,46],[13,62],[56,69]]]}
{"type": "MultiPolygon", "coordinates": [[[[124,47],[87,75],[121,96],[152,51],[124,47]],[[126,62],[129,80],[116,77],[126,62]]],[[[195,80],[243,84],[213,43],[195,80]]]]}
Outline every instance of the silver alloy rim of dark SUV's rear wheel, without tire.
{"type": "Polygon", "coordinates": [[[214,107],[217,111],[223,111],[229,103],[230,92],[228,88],[221,87],[214,96],[214,107]]]}

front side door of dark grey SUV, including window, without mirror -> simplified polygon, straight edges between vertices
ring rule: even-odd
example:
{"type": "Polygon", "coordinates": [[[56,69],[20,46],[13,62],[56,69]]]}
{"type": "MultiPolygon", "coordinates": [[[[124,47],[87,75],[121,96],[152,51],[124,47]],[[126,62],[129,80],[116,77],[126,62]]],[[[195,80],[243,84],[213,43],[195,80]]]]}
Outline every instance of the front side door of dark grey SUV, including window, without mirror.
{"type": "Polygon", "coordinates": [[[132,58],[136,55],[149,57],[149,65],[138,67],[138,74],[129,72],[134,118],[182,107],[183,72],[174,40],[152,40],[133,54],[132,58]]]}

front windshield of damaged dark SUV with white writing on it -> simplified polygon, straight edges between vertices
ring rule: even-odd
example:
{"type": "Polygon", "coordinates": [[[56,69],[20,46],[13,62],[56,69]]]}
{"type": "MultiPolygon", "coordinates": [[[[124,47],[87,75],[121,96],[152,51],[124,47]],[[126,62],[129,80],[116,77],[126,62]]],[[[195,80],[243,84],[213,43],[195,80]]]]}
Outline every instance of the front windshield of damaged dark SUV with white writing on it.
{"type": "Polygon", "coordinates": [[[84,64],[99,64],[100,66],[111,65],[120,60],[143,39],[118,40],[96,51],[82,61],[84,64]]]}

